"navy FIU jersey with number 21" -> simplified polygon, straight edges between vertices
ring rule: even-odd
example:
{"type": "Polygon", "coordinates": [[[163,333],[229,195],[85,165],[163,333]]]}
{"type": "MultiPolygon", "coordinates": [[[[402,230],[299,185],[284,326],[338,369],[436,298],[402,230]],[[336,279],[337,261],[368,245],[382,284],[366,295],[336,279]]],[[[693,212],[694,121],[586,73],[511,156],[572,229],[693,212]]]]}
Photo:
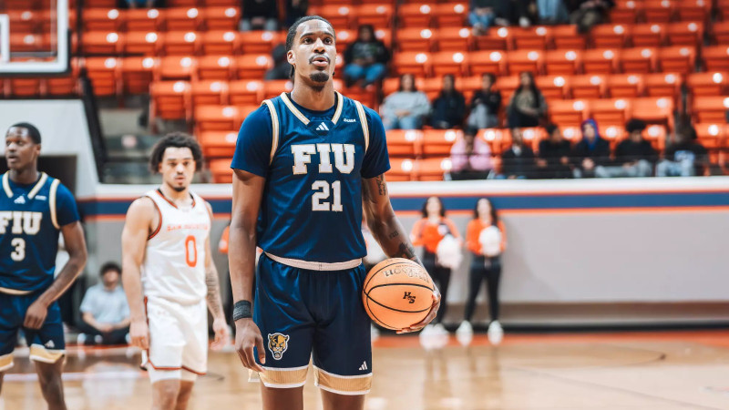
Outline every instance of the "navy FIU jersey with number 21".
{"type": "Polygon", "coordinates": [[[313,111],[287,94],[245,119],[231,168],[266,179],[258,246],[275,256],[325,263],[366,254],[362,179],[390,169],[380,117],[336,93],[313,111]]]}

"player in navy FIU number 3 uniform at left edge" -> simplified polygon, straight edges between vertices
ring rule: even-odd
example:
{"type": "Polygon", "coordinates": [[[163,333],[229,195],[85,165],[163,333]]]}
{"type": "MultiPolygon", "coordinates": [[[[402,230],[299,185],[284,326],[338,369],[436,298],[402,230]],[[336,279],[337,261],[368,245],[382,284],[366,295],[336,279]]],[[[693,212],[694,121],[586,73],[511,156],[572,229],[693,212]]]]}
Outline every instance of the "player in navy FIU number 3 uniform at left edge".
{"type": "Polygon", "coordinates": [[[65,409],[64,334],[56,300],[84,268],[84,231],[73,195],[58,179],[38,172],[41,149],[37,128],[18,123],[5,134],[10,169],[0,192],[0,386],[13,366],[17,332],[23,329],[30,359],[49,409],[65,409]],[[58,233],[69,260],[54,279],[58,233]]]}

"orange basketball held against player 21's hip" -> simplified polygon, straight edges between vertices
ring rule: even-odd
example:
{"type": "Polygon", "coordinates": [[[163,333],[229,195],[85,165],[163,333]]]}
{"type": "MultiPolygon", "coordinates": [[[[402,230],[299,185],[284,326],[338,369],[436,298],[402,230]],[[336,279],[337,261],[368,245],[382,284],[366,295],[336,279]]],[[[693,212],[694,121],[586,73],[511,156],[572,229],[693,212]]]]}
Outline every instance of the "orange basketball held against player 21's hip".
{"type": "Polygon", "coordinates": [[[414,261],[381,261],[364,279],[364,310],[375,323],[400,330],[426,318],[433,305],[433,280],[414,261]]]}

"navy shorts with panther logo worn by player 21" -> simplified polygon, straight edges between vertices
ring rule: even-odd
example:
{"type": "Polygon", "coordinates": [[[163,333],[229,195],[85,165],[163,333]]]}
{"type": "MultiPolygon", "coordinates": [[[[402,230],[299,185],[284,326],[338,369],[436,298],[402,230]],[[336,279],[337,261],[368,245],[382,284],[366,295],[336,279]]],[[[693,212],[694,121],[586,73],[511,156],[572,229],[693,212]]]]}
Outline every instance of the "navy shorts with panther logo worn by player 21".
{"type": "MultiPolygon", "coordinates": [[[[267,387],[303,386],[313,359],[314,384],[364,395],[372,384],[370,318],[362,304],[364,266],[309,271],[261,255],[253,321],[266,349],[267,387]]],[[[258,361],[258,353],[255,354],[258,361]]],[[[259,363],[261,364],[261,363],[259,363]]]]}

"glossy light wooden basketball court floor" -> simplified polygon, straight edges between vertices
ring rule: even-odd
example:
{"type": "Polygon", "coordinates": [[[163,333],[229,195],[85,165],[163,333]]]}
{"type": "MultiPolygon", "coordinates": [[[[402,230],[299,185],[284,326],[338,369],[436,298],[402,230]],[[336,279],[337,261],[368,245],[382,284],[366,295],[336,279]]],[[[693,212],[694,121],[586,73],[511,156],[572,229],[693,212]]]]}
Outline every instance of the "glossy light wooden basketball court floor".
{"type": "MultiPolygon", "coordinates": [[[[375,342],[367,409],[729,409],[726,331],[507,333],[498,347],[477,334],[467,347],[453,336],[426,345],[430,350],[417,336],[375,342]]],[[[137,364],[128,348],[69,348],[68,408],[149,408],[149,381],[137,364]]],[[[258,384],[247,381],[234,353],[211,353],[209,372],[190,408],[261,408],[258,384]]],[[[321,408],[309,379],[306,408],[321,408]]],[[[5,375],[0,409],[41,408],[33,367],[18,357],[5,375]]]]}

